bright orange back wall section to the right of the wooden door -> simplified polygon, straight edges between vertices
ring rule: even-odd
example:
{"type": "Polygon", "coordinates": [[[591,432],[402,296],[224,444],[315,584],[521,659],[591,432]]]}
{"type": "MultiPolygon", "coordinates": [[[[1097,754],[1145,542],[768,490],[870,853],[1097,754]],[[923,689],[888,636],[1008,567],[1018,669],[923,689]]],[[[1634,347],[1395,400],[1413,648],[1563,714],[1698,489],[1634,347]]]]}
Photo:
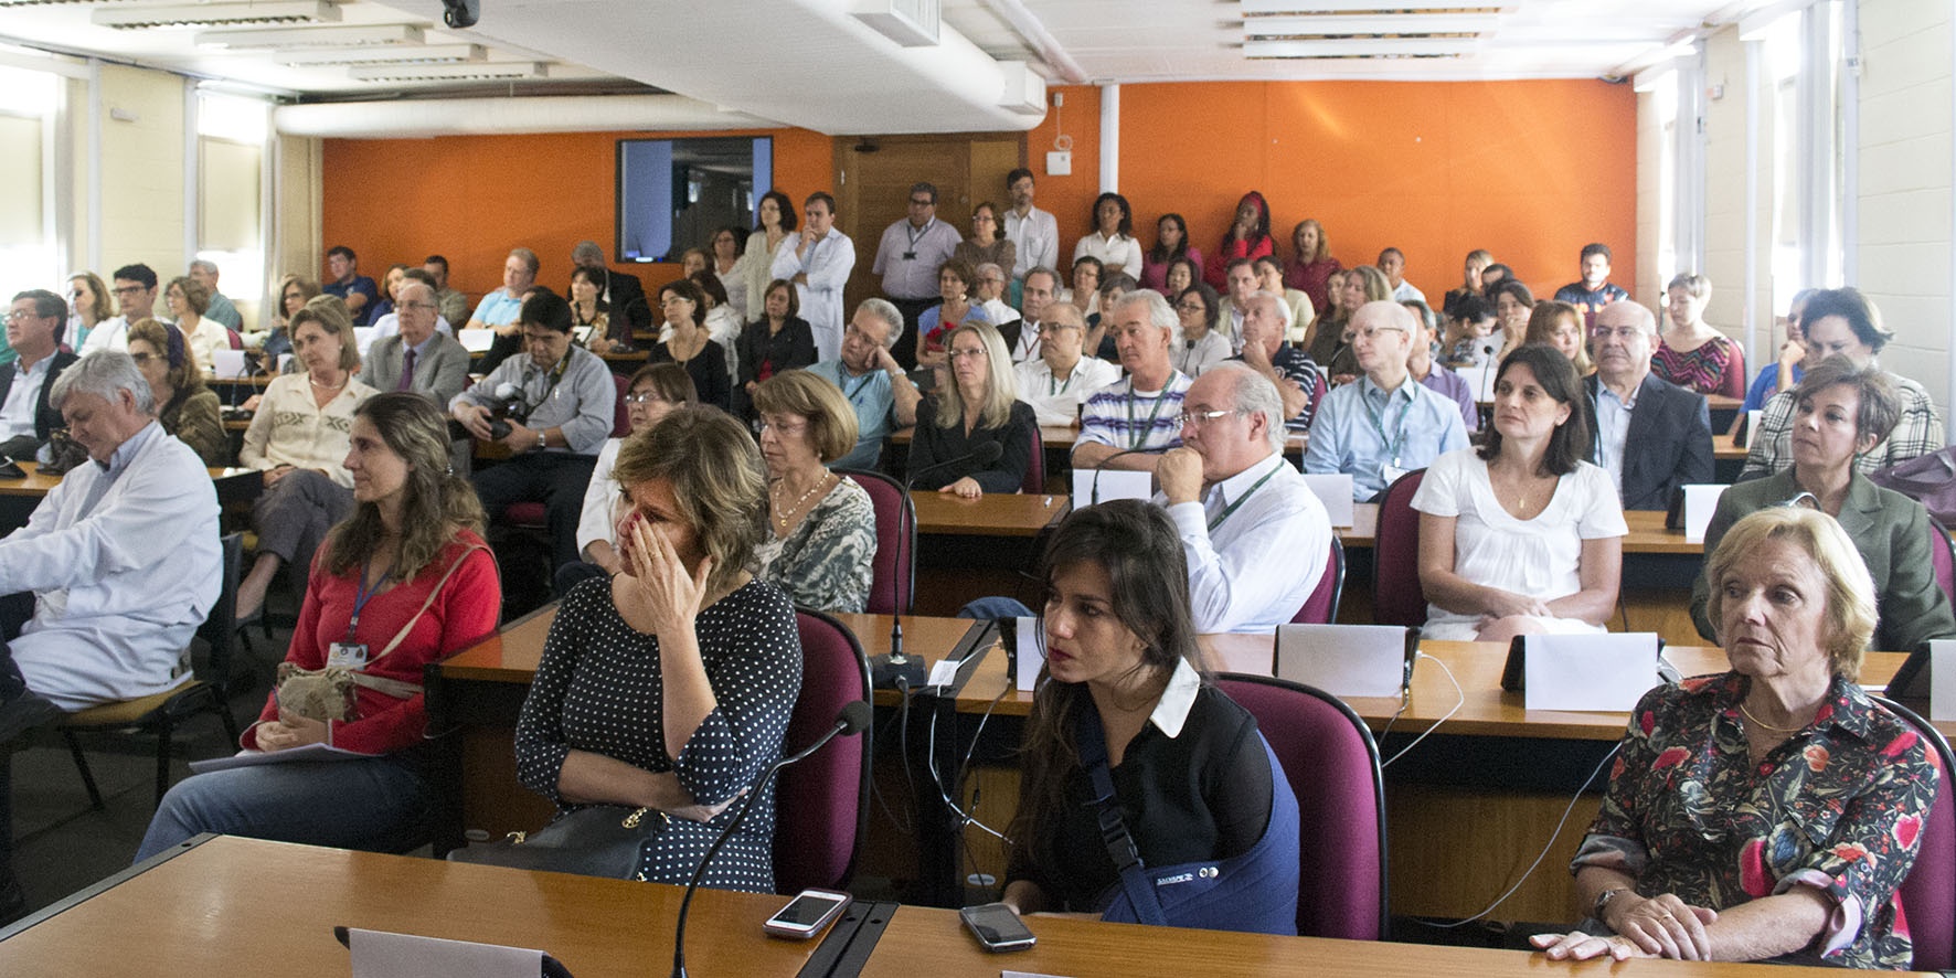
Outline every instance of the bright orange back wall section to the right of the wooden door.
{"type": "MultiPolygon", "coordinates": [[[[1070,256],[1099,194],[1099,92],[1054,90],[1060,125],[1048,111],[1027,156],[1043,174],[1052,135],[1074,137],[1074,176],[1039,178],[1070,256]]],[[[1236,200],[1262,190],[1279,254],[1316,217],[1346,266],[1404,250],[1436,303],[1473,248],[1541,295],[1577,278],[1590,241],[1616,250],[1616,282],[1635,282],[1635,133],[1631,88],[1596,80],[1125,84],[1119,190],[1144,246],[1179,211],[1207,254],[1236,200]]]]}

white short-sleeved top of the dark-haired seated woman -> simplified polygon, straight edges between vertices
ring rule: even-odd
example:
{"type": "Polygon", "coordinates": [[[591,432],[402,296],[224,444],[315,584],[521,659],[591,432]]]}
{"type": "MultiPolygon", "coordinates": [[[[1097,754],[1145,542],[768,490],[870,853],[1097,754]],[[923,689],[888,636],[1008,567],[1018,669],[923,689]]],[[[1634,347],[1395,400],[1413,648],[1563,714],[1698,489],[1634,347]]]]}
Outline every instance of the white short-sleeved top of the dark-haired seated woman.
{"type": "MultiPolygon", "coordinates": [[[[1453,516],[1453,573],[1483,587],[1530,595],[1543,602],[1582,591],[1582,542],[1623,536],[1623,507],[1610,473],[1578,462],[1555,483],[1549,505],[1530,520],[1514,518],[1494,499],[1487,462],[1473,448],[1447,452],[1426,469],[1412,509],[1453,516]]],[[[1426,606],[1422,636],[1473,642],[1479,614],[1426,606]]],[[[1604,632],[1575,618],[1541,618],[1549,632],[1604,632]]]]}

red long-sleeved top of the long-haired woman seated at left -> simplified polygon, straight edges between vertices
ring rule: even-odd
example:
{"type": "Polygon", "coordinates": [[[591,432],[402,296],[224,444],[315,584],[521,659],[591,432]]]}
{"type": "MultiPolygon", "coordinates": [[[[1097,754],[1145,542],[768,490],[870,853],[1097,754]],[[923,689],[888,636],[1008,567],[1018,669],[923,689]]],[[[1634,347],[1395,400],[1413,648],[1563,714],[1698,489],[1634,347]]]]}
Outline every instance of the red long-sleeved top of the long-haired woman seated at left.
{"type": "MultiPolygon", "coordinates": [[[[428,591],[456,559],[464,561],[462,567],[442,585],[440,597],[415,622],[415,630],[383,659],[372,661],[368,673],[421,685],[422,665],[446,659],[495,632],[503,612],[503,581],[483,538],[462,530],[413,581],[389,587],[368,600],[360,612],[360,632],[354,640],[368,645],[368,655],[379,655],[379,649],[387,647],[393,636],[421,610],[421,602],[428,600],[428,591]],[[462,554],[469,546],[479,550],[464,557],[462,554]]],[[[329,645],[346,642],[346,622],[354,614],[360,575],[358,567],[336,577],[327,573],[325,550],[321,550],[321,559],[313,561],[313,575],[305,587],[299,624],[291,630],[291,649],[286,653],[286,661],[303,669],[327,665],[329,645]]],[[[278,690],[266,696],[264,710],[258,714],[260,724],[272,720],[278,720],[278,690]]],[[[393,753],[422,741],[428,712],[422,708],[419,692],[397,700],[385,692],[358,687],[356,718],[329,724],[329,728],[334,747],[376,755],[393,753]]],[[[258,747],[256,732],[256,724],[244,732],[244,747],[258,747]]]]}

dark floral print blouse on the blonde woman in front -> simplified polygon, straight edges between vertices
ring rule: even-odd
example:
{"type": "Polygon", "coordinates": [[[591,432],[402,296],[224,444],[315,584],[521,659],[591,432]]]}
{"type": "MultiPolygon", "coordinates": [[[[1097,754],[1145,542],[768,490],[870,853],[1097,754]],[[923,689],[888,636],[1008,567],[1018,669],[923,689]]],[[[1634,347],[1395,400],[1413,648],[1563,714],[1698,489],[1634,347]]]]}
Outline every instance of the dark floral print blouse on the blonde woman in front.
{"type": "Polygon", "coordinates": [[[1753,767],[1739,716],[1747,689],[1749,677],[1719,673],[1637,702],[1571,868],[1627,872],[1641,896],[1672,892],[1712,910],[1813,886],[1835,911],[1809,953],[1907,968],[1895,888],[1936,796],[1927,747],[1837,677],[1813,724],[1753,767]]]}

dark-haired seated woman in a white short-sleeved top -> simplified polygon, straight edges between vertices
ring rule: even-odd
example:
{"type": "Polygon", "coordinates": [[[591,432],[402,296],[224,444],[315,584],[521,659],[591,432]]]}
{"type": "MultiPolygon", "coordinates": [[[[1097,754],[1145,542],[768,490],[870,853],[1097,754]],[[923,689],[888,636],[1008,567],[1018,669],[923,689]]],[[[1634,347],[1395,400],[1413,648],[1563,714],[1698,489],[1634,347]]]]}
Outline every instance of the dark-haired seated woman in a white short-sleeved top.
{"type": "Polygon", "coordinates": [[[1610,473],[1582,462],[1582,381],[1551,346],[1500,362],[1494,430],[1434,460],[1420,511],[1420,634],[1508,642],[1602,632],[1623,577],[1623,509],[1610,473]]]}

